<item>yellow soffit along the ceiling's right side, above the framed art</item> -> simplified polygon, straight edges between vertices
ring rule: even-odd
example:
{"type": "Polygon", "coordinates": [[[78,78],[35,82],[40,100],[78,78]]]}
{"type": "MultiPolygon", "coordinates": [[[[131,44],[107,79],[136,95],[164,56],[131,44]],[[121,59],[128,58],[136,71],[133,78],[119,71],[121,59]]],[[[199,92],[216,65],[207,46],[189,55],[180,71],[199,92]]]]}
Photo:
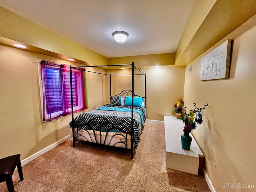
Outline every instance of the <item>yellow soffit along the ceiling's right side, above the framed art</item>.
{"type": "Polygon", "coordinates": [[[255,0],[197,0],[176,50],[186,66],[256,14],[255,0]]]}

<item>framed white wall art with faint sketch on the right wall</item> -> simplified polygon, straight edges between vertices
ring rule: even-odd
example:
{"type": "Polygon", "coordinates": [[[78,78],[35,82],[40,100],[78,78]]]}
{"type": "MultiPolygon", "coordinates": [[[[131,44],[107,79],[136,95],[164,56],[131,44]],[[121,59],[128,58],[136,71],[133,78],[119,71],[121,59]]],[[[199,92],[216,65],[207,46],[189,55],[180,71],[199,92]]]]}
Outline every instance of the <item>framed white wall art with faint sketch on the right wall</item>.
{"type": "Polygon", "coordinates": [[[200,80],[229,78],[231,40],[201,58],[200,80]]]}

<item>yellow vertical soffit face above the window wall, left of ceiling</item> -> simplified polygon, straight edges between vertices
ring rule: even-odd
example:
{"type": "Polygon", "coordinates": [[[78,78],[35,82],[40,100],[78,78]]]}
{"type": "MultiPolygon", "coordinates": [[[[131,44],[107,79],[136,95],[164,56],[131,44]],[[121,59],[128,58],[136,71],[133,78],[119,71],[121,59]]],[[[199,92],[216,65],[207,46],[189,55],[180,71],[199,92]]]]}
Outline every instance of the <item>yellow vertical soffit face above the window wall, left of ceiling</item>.
{"type": "Polygon", "coordinates": [[[106,65],[108,59],[74,41],[0,6],[0,37],[88,62],[106,65]]]}

